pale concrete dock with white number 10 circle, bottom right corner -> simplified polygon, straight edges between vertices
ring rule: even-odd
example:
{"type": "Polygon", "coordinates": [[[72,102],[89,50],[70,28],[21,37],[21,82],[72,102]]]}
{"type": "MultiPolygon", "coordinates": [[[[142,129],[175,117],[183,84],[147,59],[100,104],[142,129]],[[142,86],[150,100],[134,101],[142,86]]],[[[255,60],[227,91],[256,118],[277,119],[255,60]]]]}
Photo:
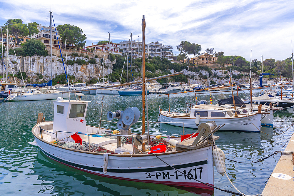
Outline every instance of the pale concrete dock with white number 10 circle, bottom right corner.
{"type": "MultiPolygon", "coordinates": [[[[294,151],[294,135],[289,140],[285,151],[294,151]]],[[[282,155],[268,183],[262,192],[266,196],[294,195],[294,171],[292,155],[282,155]]]]}

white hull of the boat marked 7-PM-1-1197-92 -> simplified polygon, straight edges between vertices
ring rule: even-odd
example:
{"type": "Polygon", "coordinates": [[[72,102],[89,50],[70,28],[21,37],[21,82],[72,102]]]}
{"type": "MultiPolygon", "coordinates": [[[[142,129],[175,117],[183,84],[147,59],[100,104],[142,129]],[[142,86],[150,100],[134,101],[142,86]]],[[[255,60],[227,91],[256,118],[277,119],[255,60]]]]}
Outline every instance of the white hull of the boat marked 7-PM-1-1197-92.
{"type": "MultiPolygon", "coordinates": [[[[195,118],[177,118],[166,116],[168,112],[161,111],[159,114],[159,122],[170,123],[170,125],[180,126],[187,128],[198,128],[198,125],[195,124],[195,118]],[[177,123],[175,123],[177,122],[177,123]]],[[[207,121],[214,121],[216,125],[225,125],[220,128],[220,130],[232,130],[232,131],[252,131],[260,132],[260,114],[251,115],[249,118],[247,116],[239,118],[219,118],[219,119],[209,119],[209,118],[200,118],[200,123],[206,123],[207,121]],[[256,126],[256,127],[255,127],[256,126]]]]}

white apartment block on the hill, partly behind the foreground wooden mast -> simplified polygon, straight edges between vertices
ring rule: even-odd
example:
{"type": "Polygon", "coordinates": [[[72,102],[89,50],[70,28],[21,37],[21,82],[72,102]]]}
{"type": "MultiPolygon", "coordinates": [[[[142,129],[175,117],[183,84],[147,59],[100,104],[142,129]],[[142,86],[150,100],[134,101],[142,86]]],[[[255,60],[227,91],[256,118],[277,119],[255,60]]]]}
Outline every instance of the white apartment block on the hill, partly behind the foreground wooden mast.
{"type": "MultiPolygon", "coordinates": [[[[139,41],[121,41],[118,43],[118,47],[123,50],[123,55],[132,55],[133,58],[142,58],[142,45],[142,42],[139,41]]],[[[145,57],[148,57],[146,44],[145,57]]]]}

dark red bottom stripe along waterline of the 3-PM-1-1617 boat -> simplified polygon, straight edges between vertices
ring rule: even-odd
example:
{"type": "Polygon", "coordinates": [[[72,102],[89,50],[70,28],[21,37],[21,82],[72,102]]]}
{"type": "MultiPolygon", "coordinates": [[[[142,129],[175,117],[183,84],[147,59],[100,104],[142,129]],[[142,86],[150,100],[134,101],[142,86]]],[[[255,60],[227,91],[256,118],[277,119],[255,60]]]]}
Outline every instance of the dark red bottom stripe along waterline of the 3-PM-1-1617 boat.
{"type": "MultiPolygon", "coordinates": [[[[47,157],[49,157],[49,156],[47,156],[47,157]]],[[[109,176],[109,175],[104,175],[104,174],[96,173],[96,172],[89,171],[89,170],[84,170],[84,169],[81,169],[79,167],[74,167],[72,165],[68,165],[68,164],[63,163],[61,161],[55,160],[55,159],[53,159],[51,157],[49,157],[49,158],[56,161],[56,162],[58,162],[58,163],[61,163],[63,165],[72,167],[74,169],[77,169],[77,170],[80,170],[80,171],[83,171],[83,172],[98,175],[98,176],[101,176],[101,177],[108,177],[108,178],[113,178],[113,179],[118,179],[118,180],[127,180],[127,181],[134,181],[134,182],[145,182],[145,183],[155,183],[155,184],[168,185],[168,186],[176,187],[178,189],[186,190],[188,192],[192,192],[192,193],[195,193],[195,194],[208,193],[209,195],[213,195],[213,192],[214,192],[214,189],[212,187],[204,185],[204,184],[202,184],[200,182],[193,183],[193,182],[166,182],[166,181],[156,181],[156,180],[135,180],[135,179],[131,179],[131,178],[109,176]]],[[[209,184],[209,185],[211,185],[211,184],[209,184]]],[[[211,185],[211,186],[213,186],[213,185],[211,185]]]]}

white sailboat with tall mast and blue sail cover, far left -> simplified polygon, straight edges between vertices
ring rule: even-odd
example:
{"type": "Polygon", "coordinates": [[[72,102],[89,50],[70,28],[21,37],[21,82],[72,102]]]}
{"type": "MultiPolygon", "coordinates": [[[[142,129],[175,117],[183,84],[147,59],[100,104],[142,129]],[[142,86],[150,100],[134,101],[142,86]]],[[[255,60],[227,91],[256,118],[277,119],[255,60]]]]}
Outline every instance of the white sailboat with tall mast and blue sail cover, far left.
{"type": "MultiPolygon", "coordinates": [[[[50,29],[51,28],[52,28],[52,12],[50,12],[50,29]]],[[[57,37],[57,32],[56,32],[56,37],[57,37]]],[[[48,90],[47,88],[37,88],[37,89],[31,89],[28,92],[23,92],[23,91],[13,92],[9,96],[7,96],[5,101],[49,100],[49,99],[56,99],[58,97],[60,98],[69,97],[68,92],[60,93],[61,91],[51,90],[52,89],[52,30],[50,30],[50,70],[51,70],[50,71],[51,79],[48,83],[46,83],[46,85],[44,85],[44,86],[50,86],[50,90],[48,90]]]]}

